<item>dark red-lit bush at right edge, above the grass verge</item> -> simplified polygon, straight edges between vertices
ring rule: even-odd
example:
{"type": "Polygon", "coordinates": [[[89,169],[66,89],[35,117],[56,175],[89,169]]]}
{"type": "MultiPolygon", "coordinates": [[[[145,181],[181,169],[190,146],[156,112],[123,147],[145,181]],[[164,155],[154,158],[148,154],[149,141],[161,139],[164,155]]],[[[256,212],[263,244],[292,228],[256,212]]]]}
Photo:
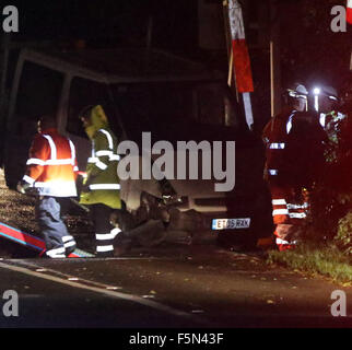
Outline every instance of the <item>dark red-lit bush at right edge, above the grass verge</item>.
{"type": "MultiPolygon", "coordinates": [[[[305,238],[335,242],[345,253],[350,233],[349,211],[352,209],[351,119],[336,118],[328,130],[326,165],[310,194],[310,226],[305,238]],[[344,219],[342,219],[344,218],[344,219]]],[[[352,230],[351,230],[352,232],[352,230]]]]}

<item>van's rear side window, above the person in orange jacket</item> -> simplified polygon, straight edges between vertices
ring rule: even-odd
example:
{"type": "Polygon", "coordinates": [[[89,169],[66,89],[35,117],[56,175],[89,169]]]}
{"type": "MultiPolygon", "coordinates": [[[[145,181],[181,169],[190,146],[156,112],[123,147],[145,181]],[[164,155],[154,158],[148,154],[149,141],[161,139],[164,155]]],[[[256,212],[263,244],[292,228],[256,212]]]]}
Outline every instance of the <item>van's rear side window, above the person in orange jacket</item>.
{"type": "Polygon", "coordinates": [[[63,74],[25,61],[22,69],[12,131],[19,136],[35,133],[37,118],[47,113],[57,113],[61,96],[63,74]],[[34,131],[34,132],[33,132],[34,131]]]}

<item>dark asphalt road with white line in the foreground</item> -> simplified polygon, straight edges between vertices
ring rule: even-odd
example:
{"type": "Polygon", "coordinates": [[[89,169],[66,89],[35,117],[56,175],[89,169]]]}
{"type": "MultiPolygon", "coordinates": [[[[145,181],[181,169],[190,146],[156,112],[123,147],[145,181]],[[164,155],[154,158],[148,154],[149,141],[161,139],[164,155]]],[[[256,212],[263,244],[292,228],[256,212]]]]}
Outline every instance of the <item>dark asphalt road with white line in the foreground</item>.
{"type": "Polygon", "coordinates": [[[19,294],[19,316],[0,307],[1,327],[352,327],[352,288],[209,246],[112,259],[3,259],[0,280],[0,292],[19,294]],[[347,295],[347,317],[331,315],[335,290],[347,295]]]}

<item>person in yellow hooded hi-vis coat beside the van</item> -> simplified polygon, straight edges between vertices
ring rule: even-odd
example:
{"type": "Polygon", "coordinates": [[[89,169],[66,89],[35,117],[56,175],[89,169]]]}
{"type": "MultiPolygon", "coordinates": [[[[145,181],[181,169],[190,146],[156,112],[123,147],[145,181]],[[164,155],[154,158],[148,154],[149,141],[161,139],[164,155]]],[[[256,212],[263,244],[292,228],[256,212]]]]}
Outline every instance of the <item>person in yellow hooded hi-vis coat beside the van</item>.
{"type": "Polygon", "coordinates": [[[92,141],[92,154],[87,160],[80,203],[90,208],[97,256],[108,257],[114,255],[113,240],[117,230],[110,224],[110,214],[114,209],[121,208],[117,139],[101,105],[84,108],[80,118],[92,141]]]}

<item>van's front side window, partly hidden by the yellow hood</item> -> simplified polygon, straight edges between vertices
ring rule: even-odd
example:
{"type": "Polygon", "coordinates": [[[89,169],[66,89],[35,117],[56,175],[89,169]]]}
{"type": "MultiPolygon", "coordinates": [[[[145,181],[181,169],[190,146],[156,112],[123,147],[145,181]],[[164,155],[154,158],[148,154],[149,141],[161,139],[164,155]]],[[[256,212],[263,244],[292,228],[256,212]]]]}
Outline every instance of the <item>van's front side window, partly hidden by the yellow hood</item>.
{"type": "Polygon", "coordinates": [[[85,106],[99,104],[109,118],[107,103],[108,95],[106,84],[82,78],[73,78],[70,88],[67,131],[86,138],[82,121],[79,118],[80,112],[85,106]]]}

